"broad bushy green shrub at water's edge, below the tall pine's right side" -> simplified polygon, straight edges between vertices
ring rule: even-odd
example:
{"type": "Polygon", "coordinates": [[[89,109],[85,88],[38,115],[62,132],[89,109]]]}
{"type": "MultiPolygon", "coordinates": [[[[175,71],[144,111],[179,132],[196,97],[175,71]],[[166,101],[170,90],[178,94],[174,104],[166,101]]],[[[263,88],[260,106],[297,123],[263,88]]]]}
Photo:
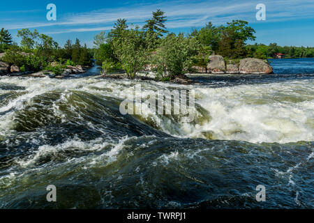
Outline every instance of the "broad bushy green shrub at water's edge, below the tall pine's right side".
{"type": "Polygon", "coordinates": [[[160,43],[156,54],[152,56],[153,70],[161,78],[168,75],[174,77],[188,72],[193,66],[193,56],[200,47],[195,38],[185,38],[183,34],[176,36],[170,33],[160,43]]]}

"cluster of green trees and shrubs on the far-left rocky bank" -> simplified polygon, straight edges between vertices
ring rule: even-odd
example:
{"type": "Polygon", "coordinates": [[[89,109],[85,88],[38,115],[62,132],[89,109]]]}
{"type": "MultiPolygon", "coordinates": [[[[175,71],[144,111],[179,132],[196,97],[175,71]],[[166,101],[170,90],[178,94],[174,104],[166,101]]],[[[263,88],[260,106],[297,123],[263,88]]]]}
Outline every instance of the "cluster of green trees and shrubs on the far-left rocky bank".
{"type": "Polygon", "coordinates": [[[0,52],[6,52],[1,60],[23,71],[57,71],[65,66],[91,65],[92,51],[86,44],[81,45],[79,39],[75,40],[75,44],[67,40],[64,47],[60,47],[52,37],[40,34],[36,29],[21,29],[17,31],[17,37],[21,39],[20,45],[13,42],[8,30],[1,29],[0,52]],[[56,61],[52,67],[51,63],[56,61]]]}

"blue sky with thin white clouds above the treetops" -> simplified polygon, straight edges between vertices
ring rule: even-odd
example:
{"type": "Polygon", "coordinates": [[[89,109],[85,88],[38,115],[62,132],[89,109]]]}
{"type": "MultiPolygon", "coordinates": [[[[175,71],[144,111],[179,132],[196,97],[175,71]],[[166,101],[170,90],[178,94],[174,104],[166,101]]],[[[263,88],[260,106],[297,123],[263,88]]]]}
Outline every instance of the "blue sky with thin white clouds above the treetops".
{"type": "Polygon", "coordinates": [[[93,37],[110,30],[117,19],[141,26],[156,8],[165,11],[167,29],[174,33],[187,33],[209,21],[220,25],[237,19],[250,23],[257,43],[314,47],[314,0],[2,1],[0,27],[9,29],[17,43],[17,30],[29,28],[52,36],[60,45],[80,38],[92,47],[93,37]],[[57,21],[47,21],[48,3],[57,6],[57,21]],[[266,21],[256,20],[257,3],[266,6],[266,21]]]}

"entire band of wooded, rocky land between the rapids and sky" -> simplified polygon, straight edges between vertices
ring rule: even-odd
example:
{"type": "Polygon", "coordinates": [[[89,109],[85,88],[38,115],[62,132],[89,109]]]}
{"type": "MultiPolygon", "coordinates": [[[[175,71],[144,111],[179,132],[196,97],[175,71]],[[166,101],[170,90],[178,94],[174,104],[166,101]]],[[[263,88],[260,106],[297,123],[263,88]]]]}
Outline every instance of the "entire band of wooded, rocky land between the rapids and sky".
{"type": "Polygon", "coordinates": [[[103,77],[123,73],[135,79],[144,71],[154,72],[158,81],[185,78],[186,73],[267,74],[272,72],[267,59],[276,54],[285,58],[313,57],[312,47],[280,47],[276,43],[248,45],[255,40],[255,30],[242,20],[214,26],[208,22],[190,33],[170,33],[161,10],[152,13],[140,28],[124,19],[113,29],[94,37],[94,49],[76,39],[63,47],[52,37],[35,29],[17,32],[20,45],[13,43],[8,30],[0,31],[0,75],[63,78],[83,73],[92,60],[101,66],[103,77]]]}

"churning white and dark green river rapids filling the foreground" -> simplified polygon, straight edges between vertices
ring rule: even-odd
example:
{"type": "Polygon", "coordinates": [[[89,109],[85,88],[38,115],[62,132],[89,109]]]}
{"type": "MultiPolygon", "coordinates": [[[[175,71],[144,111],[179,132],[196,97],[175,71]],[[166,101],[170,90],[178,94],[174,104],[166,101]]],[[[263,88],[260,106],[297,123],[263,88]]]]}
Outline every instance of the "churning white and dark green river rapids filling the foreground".
{"type": "Polygon", "coordinates": [[[0,208],[314,208],[314,59],[272,66],[190,86],[0,77],[0,208]],[[121,115],[135,84],[195,89],[195,121],[121,115]]]}

